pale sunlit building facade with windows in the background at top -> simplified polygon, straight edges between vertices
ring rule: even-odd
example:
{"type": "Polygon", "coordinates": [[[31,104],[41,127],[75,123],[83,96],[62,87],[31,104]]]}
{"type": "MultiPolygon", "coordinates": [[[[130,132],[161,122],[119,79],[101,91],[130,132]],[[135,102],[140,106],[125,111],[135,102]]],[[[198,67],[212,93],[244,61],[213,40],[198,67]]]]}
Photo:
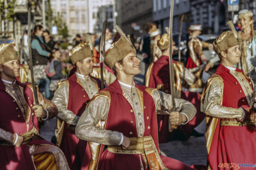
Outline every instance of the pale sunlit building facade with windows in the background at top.
{"type": "Polygon", "coordinates": [[[113,0],[51,0],[53,15],[60,12],[70,35],[94,32],[99,8],[113,0]]]}

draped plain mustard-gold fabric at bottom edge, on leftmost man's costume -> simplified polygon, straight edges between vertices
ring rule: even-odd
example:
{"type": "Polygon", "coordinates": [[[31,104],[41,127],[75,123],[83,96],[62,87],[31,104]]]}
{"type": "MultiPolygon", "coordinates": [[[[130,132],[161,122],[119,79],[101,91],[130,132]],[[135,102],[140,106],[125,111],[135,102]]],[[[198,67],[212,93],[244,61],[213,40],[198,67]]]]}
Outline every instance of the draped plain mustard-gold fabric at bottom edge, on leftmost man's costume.
{"type": "Polygon", "coordinates": [[[57,170],[54,155],[51,153],[40,153],[33,155],[36,170],[57,170]]]}

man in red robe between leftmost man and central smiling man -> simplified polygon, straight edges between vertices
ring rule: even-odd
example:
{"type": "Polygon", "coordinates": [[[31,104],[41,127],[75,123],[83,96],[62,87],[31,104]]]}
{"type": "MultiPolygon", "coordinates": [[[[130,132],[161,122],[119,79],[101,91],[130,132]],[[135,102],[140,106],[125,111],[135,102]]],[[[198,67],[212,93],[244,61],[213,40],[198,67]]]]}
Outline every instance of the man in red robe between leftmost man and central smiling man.
{"type": "Polygon", "coordinates": [[[91,77],[93,71],[93,51],[89,43],[80,43],[70,52],[70,59],[76,72],[62,81],[52,101],[58,107],[56,127],[57,146],[63,150],[70,169],[81,169],[87,141],[75,135],[75,126],[86,109],[86,105],[100,90],[100,80],[91,77]]]}

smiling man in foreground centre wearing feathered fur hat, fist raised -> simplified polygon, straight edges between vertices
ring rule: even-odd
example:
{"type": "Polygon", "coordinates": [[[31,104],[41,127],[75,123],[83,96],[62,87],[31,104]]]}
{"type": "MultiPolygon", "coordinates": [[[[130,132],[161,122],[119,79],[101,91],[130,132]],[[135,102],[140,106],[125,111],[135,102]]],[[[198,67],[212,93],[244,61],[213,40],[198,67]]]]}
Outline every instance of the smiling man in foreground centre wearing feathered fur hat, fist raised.
{"type": "Polygon", "coordinates": [[[130,39],[121,35],[105,55],[117,80],[97,93],[76,126],[76,135],[89,141],[82,169],[193,169],[184,163],[159,154],[156,114],[168,114],[174,125],[190,121],[196,108],[183,99],[137,85],[133,77],[141,70],[140,60],[130,39]],[[95,143],[94,143],[95,142],[95,143]],[[104,148],[107,148],[104,150],[104,148]]]}

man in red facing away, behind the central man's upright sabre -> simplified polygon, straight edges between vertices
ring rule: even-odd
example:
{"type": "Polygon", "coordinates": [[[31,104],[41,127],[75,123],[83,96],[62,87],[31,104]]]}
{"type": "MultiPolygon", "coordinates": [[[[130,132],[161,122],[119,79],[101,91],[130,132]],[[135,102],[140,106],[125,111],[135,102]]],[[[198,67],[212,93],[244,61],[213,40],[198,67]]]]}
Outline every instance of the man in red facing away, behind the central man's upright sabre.
{"type": "MultiPolygon", "coordinates": [[[[162,56],[149,67],[146,75],[146,86],[156,88],[170,94],[170,76],[169,76],[169,35],[163,34],[161,39],[157,41],[157,45],[162,51],[162,56]]],[[[190,101],[196,106],[197,114],[185,125],[179,125],[178,129],[169,132],[168,115],[157,115],[157,124],[159,125],[159,142],[167,142],[169,140],[188,140],[190,135],[203,136],[199,134],[195,127],[200,124],[205,115],[200,112],[200,94],[190,91],[182,91],[181,78],[188,84],[194,83],[194,75],[188,71],[181,62],[173,60],[174,79],[175,79],[175,97],[190,101]]]]}

